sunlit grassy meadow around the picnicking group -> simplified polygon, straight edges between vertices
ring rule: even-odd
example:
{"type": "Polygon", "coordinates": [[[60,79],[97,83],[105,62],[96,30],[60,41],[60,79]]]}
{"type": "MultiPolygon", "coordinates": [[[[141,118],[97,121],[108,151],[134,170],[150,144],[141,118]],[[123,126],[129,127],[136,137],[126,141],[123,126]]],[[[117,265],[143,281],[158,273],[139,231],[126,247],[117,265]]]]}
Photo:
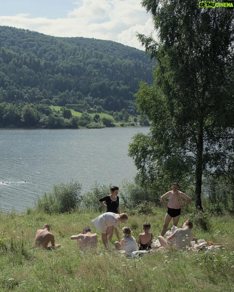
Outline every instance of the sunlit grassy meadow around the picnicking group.
{"type": "MultiPolygon", "coordinates": [[[[165,212],[164,208],[156,208],[151,215],[129,213],[129,220],[120,224],[119,232],[123,226],[129,226],[137,239],[142,223],[149,221],[156,238],[165,212]]],[[[76,241],[70,240],[85,225],[95,232],[91,220],[99,214],[86,210],[49,215],[34,209],[19,214],[1,213],[0,291],[234,291],[233,216],[212,217],[207,232],[196,224],[192,230],[198,239],[221,244],[220,250],[159,250],[133,259],[114,250],[115,235],[111,250],[105,250],[99,234],[97,253],[81,251],[76,241]],[[55,243],[61,244],[61,248],[31,249],[36,231],[44,223],[51,225],[55,243]]],[[[182,215],[179,226],[187,218],[189,214],[182,215]]]]}

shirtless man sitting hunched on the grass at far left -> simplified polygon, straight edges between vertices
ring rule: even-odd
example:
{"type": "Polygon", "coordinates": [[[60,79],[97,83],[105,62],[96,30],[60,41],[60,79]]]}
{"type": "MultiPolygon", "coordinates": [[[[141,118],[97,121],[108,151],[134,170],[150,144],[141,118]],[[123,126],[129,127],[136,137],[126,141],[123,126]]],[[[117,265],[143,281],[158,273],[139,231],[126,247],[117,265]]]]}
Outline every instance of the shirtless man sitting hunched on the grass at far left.
{"type": "Polygon", "coordinates": [[[50,226],[45,223],[42,229],[37,230],[37,234],[35,236],[33,248],[42,247],[47,250],[54,249],[56,247],[60,247],[60,244],[55,244],[54,235],[49,232],[50,226]],[[48,246],[48,243],[51,242],[51,246],[48,246]]]}

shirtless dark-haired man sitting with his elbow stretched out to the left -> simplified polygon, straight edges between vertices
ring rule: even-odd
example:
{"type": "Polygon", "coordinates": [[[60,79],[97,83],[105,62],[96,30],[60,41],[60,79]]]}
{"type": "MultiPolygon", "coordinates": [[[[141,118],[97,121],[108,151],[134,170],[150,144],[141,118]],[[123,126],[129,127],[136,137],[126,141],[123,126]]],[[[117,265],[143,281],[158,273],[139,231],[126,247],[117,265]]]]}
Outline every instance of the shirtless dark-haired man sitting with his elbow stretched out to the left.
{"type": "Polygon", "coordinates": [[[77,239],[77,245],[87,249],[88,247],[97,248],[97,233],[91,233],[89,226],[83,228],[83,233],[72,235],[70,239],[77,239]]]}

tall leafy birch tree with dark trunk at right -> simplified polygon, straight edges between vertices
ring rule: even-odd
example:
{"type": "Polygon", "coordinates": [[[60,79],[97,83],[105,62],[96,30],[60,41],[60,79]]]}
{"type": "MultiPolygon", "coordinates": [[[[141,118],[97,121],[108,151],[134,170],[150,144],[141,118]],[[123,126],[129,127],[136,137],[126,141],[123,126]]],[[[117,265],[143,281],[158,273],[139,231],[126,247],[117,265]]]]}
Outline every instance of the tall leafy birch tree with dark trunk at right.
{"type": "Polygon", "coordinates": [[[144,0],[142,6],[158,40],[137,37],[157,67],[154,84],[142,81],[136,101],[152,127],[134,137],[129,155],[145,186],[196,182],[202,208],[202,175],[225,173],[233,155],[234,15],[198,8],[197,1],[144,0]]]}

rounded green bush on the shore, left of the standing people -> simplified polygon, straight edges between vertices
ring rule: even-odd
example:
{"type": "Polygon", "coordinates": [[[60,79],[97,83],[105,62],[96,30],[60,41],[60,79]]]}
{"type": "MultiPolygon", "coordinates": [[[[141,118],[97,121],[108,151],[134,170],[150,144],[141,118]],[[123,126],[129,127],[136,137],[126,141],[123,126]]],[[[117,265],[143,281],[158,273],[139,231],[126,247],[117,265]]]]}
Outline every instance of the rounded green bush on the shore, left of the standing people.
{"type": "Polygon", "coordinates": [[[51,193],[37,199],[36,208],[45,213],[65,213],[77,209],[82,201],[82,185],[77,181],[54,185],[51,193]]]}

